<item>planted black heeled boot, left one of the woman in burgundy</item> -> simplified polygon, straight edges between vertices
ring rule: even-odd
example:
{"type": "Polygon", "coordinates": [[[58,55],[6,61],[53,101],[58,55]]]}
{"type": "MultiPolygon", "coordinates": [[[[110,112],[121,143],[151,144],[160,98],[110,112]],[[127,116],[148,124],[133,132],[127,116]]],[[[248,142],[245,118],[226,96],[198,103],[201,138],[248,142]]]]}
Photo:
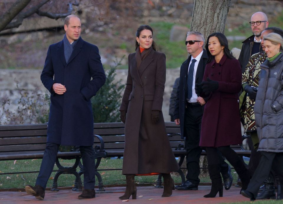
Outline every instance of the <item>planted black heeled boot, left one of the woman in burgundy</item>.
{"type": "Polygon", "coordinates": [[[220,175],[219,165],[208,165],[209,177],[211,179],[210,193],[204,195],[205,198],[214,198],[219,192],[219,197],[223,197],[223,183],[220,175]]]}

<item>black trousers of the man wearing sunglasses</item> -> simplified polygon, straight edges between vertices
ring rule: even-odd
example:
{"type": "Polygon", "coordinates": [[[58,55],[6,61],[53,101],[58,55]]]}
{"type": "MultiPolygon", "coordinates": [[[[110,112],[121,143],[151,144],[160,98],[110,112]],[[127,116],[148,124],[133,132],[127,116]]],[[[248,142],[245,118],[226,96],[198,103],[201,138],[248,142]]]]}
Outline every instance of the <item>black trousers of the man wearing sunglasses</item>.
{"type": "MultiPolygon", "coordinates": [[[[185,110],[185,148],[187,150],[187,175],[186,178],[194,185],[200,183],[198,176],[200,175],[200,154],[202,148],[200,143],[200,128],[203,117],[203,108],[199,104],[190,105],[187,103],[185,110]]],[[[221,153],[217,151],[220,160],[221,174],[225,175],[228,172],[228,164],[224,161],[221,153]]]]}

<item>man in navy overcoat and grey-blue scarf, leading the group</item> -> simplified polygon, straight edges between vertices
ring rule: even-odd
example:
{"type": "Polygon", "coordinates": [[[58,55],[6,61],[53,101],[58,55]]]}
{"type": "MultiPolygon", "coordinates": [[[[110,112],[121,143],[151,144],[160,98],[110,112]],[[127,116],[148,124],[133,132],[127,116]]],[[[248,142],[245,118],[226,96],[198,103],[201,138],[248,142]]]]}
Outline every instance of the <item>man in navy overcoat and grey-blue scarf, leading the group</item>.
{"type": "Polygon", "coordinates": [[[93,152],[93,114],[91,97],[105,83],[98,48],[80,37],[81,21],[70,15],[65,19],[62,41],[49,46],[41,81],[50,91],[51,104],[47,145],[35,186],[26,192],[43,200],[60,145],[80,146],[84,166],[84,190],[79,199],[95,197],[93,152]]]}

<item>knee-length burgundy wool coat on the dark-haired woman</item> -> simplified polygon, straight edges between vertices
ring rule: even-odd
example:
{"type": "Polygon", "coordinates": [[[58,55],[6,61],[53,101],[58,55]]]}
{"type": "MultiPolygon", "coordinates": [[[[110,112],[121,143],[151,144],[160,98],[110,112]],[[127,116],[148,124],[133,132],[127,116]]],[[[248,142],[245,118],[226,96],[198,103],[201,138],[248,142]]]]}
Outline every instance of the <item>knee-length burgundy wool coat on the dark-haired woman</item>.
{"type": "Polygon", "coordinates": [[[241,66],[238,60],[224,54],[205,67],[203,81],[209,77],[218,81],[219,88],[210,94],[205,104],[200,146],[221,147],[242,143],[238,93],[241,90],[241,66]]]}

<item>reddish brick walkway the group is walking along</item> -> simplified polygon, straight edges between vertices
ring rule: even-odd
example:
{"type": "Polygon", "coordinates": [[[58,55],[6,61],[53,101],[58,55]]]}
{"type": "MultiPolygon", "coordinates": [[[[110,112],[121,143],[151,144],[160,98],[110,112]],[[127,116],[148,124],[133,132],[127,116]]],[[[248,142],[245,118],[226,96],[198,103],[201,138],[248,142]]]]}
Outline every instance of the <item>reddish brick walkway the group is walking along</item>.
{"type": "MultiPolygon", "coordinates": [[[[210,192],[211,186],[199,186],[199,190],[174,190],[170,197],[162,198],[163,189],[153,186],[137,187],[137,199],[129,199],[127,203],[231,203],[240,201],[249,201],[248,198],[239,194],[240,188],[232,187],[230,190],[223,190],[223,197],[204,198],[203,195],[210,192]]],[[[58,192],[45,191],[45,199],[37,200],[32,195],[25,192],[4,192],[0,191],[1,204],[22,204],[22,203],[45,203],[45,204],[72,204],[72,203],[95,203],[95,204],[115,204],[122,203],[118,197],[123,195],[125,187],[105,188],[105,192],[96,193],[96,198],[78,200],[81,192],[72,190],[60,190],[58,192]]],[[[219,196],[217,194],[217,196],[219,196]]],[[[124,203],[124,202],[123,202],[124,203]]]]}

